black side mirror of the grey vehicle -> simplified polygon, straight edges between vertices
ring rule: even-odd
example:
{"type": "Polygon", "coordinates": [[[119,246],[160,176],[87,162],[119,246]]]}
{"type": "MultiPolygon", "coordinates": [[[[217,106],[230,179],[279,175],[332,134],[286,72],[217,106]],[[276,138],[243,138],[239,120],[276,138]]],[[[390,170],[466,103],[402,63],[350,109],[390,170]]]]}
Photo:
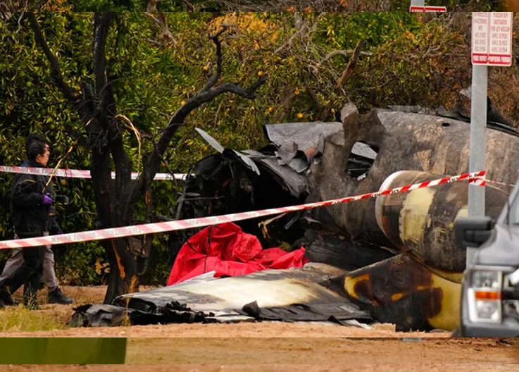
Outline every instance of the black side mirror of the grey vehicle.
{"type": "Polygon", "coordinates": [[[495,222],[490,217],[462,217],[454,222],[454,236],[460,248],[477,248],[488,240],[495,222]]]}

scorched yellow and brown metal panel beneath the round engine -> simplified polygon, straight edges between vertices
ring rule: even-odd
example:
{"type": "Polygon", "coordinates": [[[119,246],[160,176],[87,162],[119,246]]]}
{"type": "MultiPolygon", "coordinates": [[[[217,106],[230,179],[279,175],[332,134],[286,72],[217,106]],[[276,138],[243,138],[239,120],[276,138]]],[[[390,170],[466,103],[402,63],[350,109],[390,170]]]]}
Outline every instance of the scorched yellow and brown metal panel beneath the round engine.
{"type": "Polygon", "coordinates": [[[462,275],[400,254],[345,275],[343,284],[349,298],[383,320],[454,330],[460,323],[462,275]]]}

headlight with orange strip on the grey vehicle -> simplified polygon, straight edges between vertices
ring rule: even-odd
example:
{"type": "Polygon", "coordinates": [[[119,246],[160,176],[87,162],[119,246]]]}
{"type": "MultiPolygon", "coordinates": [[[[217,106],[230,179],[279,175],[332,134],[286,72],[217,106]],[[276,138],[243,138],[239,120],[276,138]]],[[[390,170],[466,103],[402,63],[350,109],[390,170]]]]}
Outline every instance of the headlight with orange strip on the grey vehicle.
{"type": "Polygon", "coordinates": [[[468,287],[468,316],[471,322],[501,323],[503,273],[474,270],[468,287]]]}

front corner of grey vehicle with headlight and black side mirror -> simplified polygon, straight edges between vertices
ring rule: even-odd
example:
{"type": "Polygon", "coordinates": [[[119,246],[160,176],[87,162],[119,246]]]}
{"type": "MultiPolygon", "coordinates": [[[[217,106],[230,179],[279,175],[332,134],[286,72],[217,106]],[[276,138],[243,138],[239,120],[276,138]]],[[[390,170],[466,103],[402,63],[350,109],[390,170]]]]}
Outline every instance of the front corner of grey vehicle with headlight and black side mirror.
{"type": "Polygon", "coordinates": [[[455,223],[458,245],[478,247],[463,275],[462,337],[519,337],[518,194],[515,186],[495,224],[489,217],[455,223]]]}

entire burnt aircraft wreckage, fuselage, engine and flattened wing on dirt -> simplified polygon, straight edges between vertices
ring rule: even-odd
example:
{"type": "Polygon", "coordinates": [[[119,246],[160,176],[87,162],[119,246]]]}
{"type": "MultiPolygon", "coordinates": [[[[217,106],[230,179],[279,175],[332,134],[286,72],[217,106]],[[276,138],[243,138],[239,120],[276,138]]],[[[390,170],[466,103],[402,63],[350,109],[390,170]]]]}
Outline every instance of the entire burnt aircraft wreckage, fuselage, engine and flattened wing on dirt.
{"type": "MultiPolygon", "coordinates": [[[[342,123],[265,125],[270,144],[224,149],[192,167],[177,219],[253,211],[385,190],[468,170],[470,125],[459,113],[399,106],[342,123]]],[[[502,120],[501,120],[502,121],[502,120]]],[[[519,176],[519,133],[489,118],[487,216],[496,218],[519,176]]],[[[237,223],[264,245],[306,247],[312,263],[237,278],[201,278],[78,309],[73,323],[334,320],[395,323],[397,330],[458,326],[465,251],[454,221],[467,214],[467,182],[237,223]],[[241,283],[241,284],[239,284],[241,283]],[[240,290],[242,287],[244,289],[240,290]],[[277,294],[282,293],[282,296],[277,294]],[[327,305],[328,304],[328,305],[327,305]]],[[[192,231],[170,235],[172,259],[192,231]]],[[[358,323],[361,322],[361,323],[358,323]]]]}

